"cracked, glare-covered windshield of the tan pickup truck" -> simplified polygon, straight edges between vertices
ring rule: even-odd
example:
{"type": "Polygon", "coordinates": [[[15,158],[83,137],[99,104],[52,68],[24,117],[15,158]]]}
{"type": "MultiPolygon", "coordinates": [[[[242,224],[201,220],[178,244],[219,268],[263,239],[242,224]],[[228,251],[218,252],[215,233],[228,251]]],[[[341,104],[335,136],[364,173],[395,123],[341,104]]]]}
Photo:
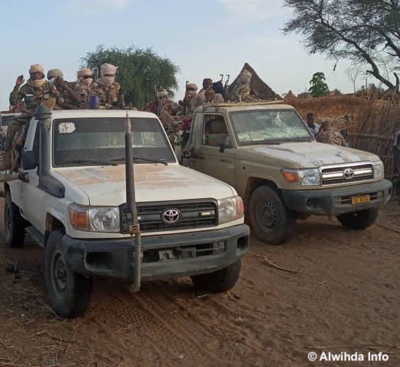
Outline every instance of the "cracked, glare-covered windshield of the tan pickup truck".
{"type": "Polygon", "coordinates": [[[294,110],[247,110],[230,113],[239,145],[312,141],[294,110]]]}

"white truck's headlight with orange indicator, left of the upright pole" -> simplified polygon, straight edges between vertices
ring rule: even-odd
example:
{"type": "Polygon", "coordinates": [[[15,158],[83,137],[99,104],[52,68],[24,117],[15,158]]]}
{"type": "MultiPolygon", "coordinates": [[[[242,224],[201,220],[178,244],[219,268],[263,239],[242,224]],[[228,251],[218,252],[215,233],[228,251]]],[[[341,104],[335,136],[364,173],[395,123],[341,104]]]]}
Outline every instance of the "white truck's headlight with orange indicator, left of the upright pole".
{"type": "Polygon", "coordinates": [[[119,210],[109,206],[68,206],[69,220],[76,230],[119,232],[119,210]]]}

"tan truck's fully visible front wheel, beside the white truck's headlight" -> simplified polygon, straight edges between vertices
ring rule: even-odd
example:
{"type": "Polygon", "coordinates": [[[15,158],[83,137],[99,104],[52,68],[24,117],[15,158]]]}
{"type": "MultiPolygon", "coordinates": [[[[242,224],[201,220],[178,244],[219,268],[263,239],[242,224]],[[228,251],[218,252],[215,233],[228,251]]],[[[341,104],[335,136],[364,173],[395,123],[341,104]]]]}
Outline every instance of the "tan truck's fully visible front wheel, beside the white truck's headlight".
{"type": "Polygon", "coordinates": [[[288,241],[296,222],[295,214],[286,208],[279,192],[267,185],[251,194],[248,215],[251,233],[273,245],[288,241]]]}

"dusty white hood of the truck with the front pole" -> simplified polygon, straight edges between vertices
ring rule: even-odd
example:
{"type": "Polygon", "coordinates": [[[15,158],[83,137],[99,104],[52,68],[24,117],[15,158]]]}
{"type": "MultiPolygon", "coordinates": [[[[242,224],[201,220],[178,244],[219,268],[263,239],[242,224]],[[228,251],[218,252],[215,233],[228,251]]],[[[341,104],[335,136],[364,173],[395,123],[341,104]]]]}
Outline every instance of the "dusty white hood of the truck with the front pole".
{"type": "MultiPolygon", "coordinates": [[[[90,205],[118,206],[126,202],[125,165],[56,169],[86,193],[90,205]]],[[[222,199],[236,195],[229,185],[177,164],[134,165],[137,202],[222,199]]]]}

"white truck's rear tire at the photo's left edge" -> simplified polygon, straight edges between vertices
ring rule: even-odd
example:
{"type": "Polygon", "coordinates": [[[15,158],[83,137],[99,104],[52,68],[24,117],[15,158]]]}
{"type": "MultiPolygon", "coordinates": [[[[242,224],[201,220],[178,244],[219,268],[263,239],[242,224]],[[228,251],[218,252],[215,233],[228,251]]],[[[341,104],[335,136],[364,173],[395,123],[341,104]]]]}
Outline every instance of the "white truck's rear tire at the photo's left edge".
{"type": "Polygon", "coordinates": [[[24,246],[27,221],[21,217],[18,206],[12,202],[10,191],[5,191],[3,235],[5,244],[11,248],[24,246]]]}

